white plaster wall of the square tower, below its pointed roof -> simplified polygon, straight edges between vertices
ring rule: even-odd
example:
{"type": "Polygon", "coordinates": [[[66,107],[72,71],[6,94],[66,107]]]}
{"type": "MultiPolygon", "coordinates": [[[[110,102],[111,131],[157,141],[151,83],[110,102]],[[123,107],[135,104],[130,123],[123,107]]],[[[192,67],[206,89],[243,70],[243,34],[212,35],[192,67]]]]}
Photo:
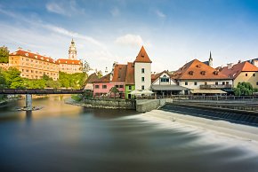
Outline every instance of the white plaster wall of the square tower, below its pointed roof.
{"type": "Polygon", "coordinates": [[[134,63],[134,81],[135,90],[141,90],[141,85],[144,85],[144,90],[150,89],[151,63],[134,63]],[[141,74],[141,68],[144,68],[144,74],[141,74]],[[144,82],[141,82],[141,77],[144,77],[144,82]]]}

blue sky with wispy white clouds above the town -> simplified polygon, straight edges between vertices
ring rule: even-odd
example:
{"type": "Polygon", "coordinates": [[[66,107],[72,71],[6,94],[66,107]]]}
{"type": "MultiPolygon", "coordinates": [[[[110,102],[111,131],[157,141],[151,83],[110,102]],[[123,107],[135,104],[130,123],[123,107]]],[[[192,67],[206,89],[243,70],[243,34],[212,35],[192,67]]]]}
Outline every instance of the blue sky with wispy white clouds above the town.
{"type": "Polygon", "coordinates": [[[152,71],[192,59],[214,66],[258,58],[258,0],[0,0],[0,46],[111,70],[143,45],[152,71]]]}

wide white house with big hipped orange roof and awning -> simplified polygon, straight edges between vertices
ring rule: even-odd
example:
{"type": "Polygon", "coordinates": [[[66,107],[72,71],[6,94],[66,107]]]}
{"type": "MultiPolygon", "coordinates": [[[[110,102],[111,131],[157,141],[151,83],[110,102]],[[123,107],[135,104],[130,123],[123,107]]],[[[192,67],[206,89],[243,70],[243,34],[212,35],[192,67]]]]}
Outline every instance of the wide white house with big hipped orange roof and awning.
{"type": "MultiPolygon", "coordinates": [[[[181,66],[181,68],[173,73],[172,78],[178,85],[186,87],[189,90],[194,90],[191,92],[197,94],[205,92],[209,92],[209,94],[220,94],[225,93],[220,90],[232,87],[232,79],[228,75],[222,74],[220,71],[200,62],[198,59],[194,59],[181,66]]],[[[189,94],[189,91],[185,90],[185,94],[189,94]]]]}

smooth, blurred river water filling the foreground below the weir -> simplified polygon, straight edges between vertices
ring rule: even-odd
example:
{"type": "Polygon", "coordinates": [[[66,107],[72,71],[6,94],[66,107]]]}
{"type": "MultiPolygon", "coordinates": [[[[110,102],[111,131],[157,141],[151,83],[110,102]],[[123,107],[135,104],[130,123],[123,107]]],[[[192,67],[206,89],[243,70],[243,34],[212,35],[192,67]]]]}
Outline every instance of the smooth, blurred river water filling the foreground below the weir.
{"type": "Polygon", "coordinates": [[[17,112],[24,100],[0,108],[0,171],[258,171],[252,142],[163,125],[134,111],[88,109],[56,96],[44,108],[17,112]]]}

